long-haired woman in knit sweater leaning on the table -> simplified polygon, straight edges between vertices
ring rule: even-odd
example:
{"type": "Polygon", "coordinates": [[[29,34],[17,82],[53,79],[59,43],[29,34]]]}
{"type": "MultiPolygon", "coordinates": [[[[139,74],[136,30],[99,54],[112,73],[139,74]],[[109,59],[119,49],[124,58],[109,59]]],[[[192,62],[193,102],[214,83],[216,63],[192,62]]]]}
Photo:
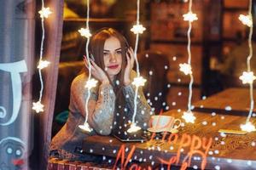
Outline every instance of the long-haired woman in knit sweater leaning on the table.
{"type": "MultiPolygon", "coordinates": [[[[131,81],[137,76],[132,70],[134,53],[125,37],[112,28],[97,31],[90,40],[92,77],[96,78],[98,87],[92,88],[88,104],[88,123],[93,131],[83,132],[79,125],[84,123],[85,101],[88,89],[84,85],[88,71],[75,77],[71,85],[69,116],[64,127],[55,135],[50,145],[50,156],[69,160],[92,161],[93,156],[78,155],[76,147],[81,148],[82,141],[89,135],[109,135],[113,131],[129,127],[131,122],[135,87],[131,81]]],[[[88,68],[88,62],[84,59],[88,68]]],[[[137,98],[137,126],[147,129],[151,108],[139,88],[137,98]]],[[[127,129],[127,128],[126,128],[127,129]]]]}

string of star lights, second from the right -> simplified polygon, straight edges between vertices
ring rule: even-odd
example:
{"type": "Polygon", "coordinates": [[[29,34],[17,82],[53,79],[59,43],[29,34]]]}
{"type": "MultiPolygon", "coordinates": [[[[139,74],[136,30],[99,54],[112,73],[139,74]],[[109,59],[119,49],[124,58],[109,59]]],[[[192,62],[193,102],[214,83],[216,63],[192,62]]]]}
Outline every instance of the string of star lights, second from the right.
{"type": "Polygon", "coordinates": [[[189,0],[189,12],[187,14],[183,14],[183,20],[189,21],[189,29],[187,32],[187,37],[188,37],[188,63],[183,63],[179,64],[180,66],[180,71],[182,71],[185,75],[189,75],[190,77],[190,82],[189,82],[189,100],[188,100],[188,111],[183,112],[183,119],[185,122],[195,122],[195,116],[193,112],[191,111],[191,99],[192,99],[192,85],[194,82],[194,77],[193,77],[193,72],[192,72],[192,67],[191,67],[191,38],[190,38],[190,32],[192,29],[192,22],[195,20],[198,20],[196,14],[193,14],[192,12],[192,0],[189,0]]]}

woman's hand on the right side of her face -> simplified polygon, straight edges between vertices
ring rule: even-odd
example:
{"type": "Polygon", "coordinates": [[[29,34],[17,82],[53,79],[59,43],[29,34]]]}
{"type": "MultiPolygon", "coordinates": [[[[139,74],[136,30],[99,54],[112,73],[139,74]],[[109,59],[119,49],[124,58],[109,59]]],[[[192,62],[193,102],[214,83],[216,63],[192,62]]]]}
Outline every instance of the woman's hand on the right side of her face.
{"type": "Polygon", "coordinates": [[[127,59],[127,65],[125,67],[125,75],[124,75],[124,84],[125,86],[128,86],[131,84],[131,70],[134,65],[134,52],[132,48],[128,48],[126,53],[126,59],[127,59]]]}

